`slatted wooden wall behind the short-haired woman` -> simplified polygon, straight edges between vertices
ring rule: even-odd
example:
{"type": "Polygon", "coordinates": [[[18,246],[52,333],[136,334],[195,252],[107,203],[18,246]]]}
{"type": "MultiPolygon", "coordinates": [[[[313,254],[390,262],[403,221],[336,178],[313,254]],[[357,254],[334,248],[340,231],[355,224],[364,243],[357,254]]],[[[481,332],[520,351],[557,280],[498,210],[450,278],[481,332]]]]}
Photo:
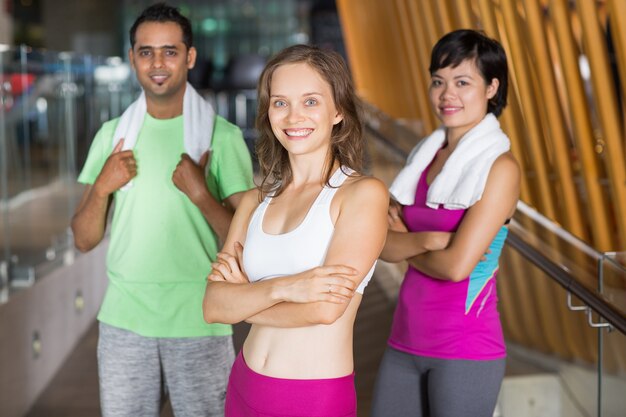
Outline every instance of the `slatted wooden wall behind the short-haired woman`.
{"type": "Polygon", "coordinates": [[[626,2],[607,0],[606,11],[594,0],[337,3],[359,91],[419,131],[437,126],[428,104],[436,40],[460,27],[499,39],[511,68],[501,120],[524,169],[523,200],[598,250],[626,249],[626,82],[615,91],[600,20],[611,21],[626,79],[626,2]]]}

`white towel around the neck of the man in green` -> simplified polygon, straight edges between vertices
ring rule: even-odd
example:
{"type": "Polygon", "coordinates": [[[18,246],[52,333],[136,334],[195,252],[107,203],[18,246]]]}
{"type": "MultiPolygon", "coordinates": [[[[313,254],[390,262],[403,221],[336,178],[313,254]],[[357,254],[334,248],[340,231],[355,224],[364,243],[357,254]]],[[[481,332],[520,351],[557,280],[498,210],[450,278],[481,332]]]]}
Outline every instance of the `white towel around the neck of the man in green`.
{"type": "MultiPolygon", "coordinates": [[[[142,91],[139,98],[120,117],[113,135],[113,148],[122,138],[124,139],[122,150],[135,147],[146,112],[146,94],[142,91]]],[[[215,111],[211,104],[187,83],[183,98],[184,147],[185,152],[196,163],[200,161],[202,154],[211,149],[214,123],[215,111]]],[[[127,190],[131,183],[132,181],[122,187],[122,190],[127,190]]]]}

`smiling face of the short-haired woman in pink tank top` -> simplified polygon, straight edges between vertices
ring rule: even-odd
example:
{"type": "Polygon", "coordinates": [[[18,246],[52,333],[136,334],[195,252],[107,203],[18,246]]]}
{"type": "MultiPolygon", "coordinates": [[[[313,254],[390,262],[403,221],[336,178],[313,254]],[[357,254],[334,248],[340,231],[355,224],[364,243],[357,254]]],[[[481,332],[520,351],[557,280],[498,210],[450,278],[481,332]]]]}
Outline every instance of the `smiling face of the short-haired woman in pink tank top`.
{"type": "Polygon", "coordinates": [[[498,91],[496,78],[485,81],[473,60],[445,67],[431,76],[430,103],[448,130],[448,140],[458,139],[487,114],[487,105],[498,91]]]}

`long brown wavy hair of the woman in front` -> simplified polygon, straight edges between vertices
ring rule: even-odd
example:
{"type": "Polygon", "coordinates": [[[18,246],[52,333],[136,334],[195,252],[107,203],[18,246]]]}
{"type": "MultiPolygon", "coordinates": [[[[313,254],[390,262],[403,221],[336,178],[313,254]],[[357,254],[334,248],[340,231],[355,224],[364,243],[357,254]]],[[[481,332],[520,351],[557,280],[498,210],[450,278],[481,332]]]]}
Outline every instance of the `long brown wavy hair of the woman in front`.
{"type": "Polygon", "coordinates": [[[361,172],[363,127],[358,100],[345,61],[334,51],[308,45],[294,45],[275,55],[267,63],[259,78],[256,116],[259,139],[256,155],[262,177],[259,186],[262,195],[273,192],[274,196],[278,196],[292,180],[289,155],[274,136],[268,111],[274,72],[282,65],[298,63],[309,65],[330,85],[337,112],[343,116],[343,120],[333,126],[331,132],[329,155],[324,163],[325,184],[330,186],[328,182],[336,162],[339,162],[340,166],[361,172]]]}

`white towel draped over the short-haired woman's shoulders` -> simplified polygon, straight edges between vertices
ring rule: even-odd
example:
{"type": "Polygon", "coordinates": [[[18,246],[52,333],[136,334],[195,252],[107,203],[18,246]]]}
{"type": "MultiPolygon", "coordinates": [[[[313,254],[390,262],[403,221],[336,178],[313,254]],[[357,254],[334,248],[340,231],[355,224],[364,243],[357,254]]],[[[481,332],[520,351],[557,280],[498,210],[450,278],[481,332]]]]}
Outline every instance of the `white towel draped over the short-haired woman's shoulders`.
{"type": "MultiPolygon", "coordinates": [[[[415,203],[417,183],[446,140],[440,127],[421,140],[411,151],[407,164],[389,188],[391,195],[403,205],[415,203]]],[[[509,138],[500,129],[498,119],[488,113],[468,131],[452,152],[441,172],[430,185],[426,205],[447,209],[466,209],[483,195],[487,176],[494,161],[511,147],[509,138]]]]}

